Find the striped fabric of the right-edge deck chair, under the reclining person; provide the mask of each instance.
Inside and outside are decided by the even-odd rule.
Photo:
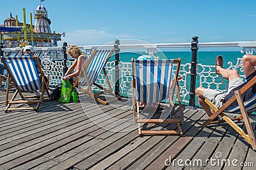
[[[254,94],[250,99],[247,101],[244,101],[244,107],[246,108],[247,112],[253,112],[256,111],[256,94]],[[239,108],[239,105],[236,104],[236,106],[233,106],[232,108],[228,108],[224,112],[227,113],[241,113],[241,110]]]

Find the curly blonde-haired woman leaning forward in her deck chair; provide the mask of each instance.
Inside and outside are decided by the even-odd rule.
[[[75,58],[76,60],[72,64],[72,66],[69,67],[67,73],[65,73],[63,80],[66,81],[67,79],[69,79],[74,83],[83,68],[83,64],[86,61],[87,56],[81,51],[81,49],[77,45],[68,46],[66,53],[71,55],[71,57]],[[75,68],[76,71],[74,71]]]

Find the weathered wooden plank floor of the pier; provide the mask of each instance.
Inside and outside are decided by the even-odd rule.
[[[4,96],[0,92],[0,169],[255,169],[256,166],[256,152],[232,127],[225,123],[202,127],[207,118],[202,109],[182,108],[183,137],[140,138],[132,120],[131,101],[103,106],[81,96],[79,103],[45,101],[38,112],[5,113]],[[255,130],[256,117],[250,115],[250,120]],[[243,122],[238,125],[244,128]],[[177,126],[148,125],[148,128],[177,129]],[[236,164],[246,162],[254,168],[212,166],[209,162],[204,165],[205,160],[218,160],[220,155],[221,160],[236,159]],[[183,162],[178,164],[177,160]],[[193,160],[202,160],[202,166],[193,165]]]

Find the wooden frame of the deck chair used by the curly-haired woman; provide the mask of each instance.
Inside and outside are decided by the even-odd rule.
[[[100,96],[102,94],[110,94],[111,96],[115,96],[117,99],[121,99],[120,96],[117,96],[116,94],[113,93],[113,90],[111,88],[111,84],[110,84],[110,81],[109,81],[109,78],[108,78],[108,74],[107,74],[107,71],[105,69],[105,66],[108,62],[108,60],[110,59],[111,55],[113,55],[113,52],[114,52],[114,49],[112,49],[110,52],[109,52],[109,55],[106,59],[106,62],[104,63],[104,67],[103,67],[103,73],[104,73],[104,76],[106,78],[106,81],[107,81],[107,84],[108,84],[108,89],[102,87],[101,85],[99,85],[98,83],[93,83],[93,85],[99,87],[99,89],[102,90],[102,92],[98,92],[98,93],[93,93],[93,90],[92,90],[92,86],[90,85],[89,83],[89,79],[88,79],[88,76],[86,74],[86,69],[88,68],[88,66],[91,64],[92,60],[93,60],[93,57],[95,57],[95,55],[97,54],[97,52],[99,52],[99,50],[94,50],[92,55],[90,56],[90,58],[88,59],[88,61],[86,62],[86,64],[84,65],[80,75],[79,75],[79,78],[77,78],[76,82],[74,83],[73,87],[78,87],[80,90],[82,90],[85,94],[88,94],[89,96],[91,96],[92,98],[95,99],[95,101],[101,103],[101,104],[104,104],[104,105],[107,105],[109,104],[109,101],[104,101],[102,99],[100,99],[99,97],[97,96]],[[81,77],[84,77],[85,78],[85,81],[86,81],[86,84],[88,85],[88,89],[84,89],[83,87],[79,87],[78,86],[78,83],[79,83],[79,80],[81,80]]]

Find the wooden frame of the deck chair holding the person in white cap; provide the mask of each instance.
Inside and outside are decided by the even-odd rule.
[[[17,57],[17,59],[19,59],[19,57]],[[49,90],[47,89],[47,86],[46,86],[46,83],[45,83],[45,80],[44,80],[44,73],[42,71],[42,68],[40,66],[40,63],[38,61],[38,58],[37,57],[32,57],[33,60],[35,60],[35,62],[37,63],[38,67],[39,67],[39,71],[40,71],[40,74],[42,75],[42,89],[38,89],[38,90],[42,90],[42,94],[41,96],[39,97],[36,97],[36,96],[24,96],[21,92],[21,90],[19,89],[17,83],[15,82],[15,79],[13,78],[12,76],[12,73],[10,71],[10,69],[8,68],[6,62],[4,61],[4,59],[2,58],[2,62],[4,64],[4,66],[6,67],[6,70],[8,72],[8,77],[7,77],[7,88],[6,88],[6,97],[5,97],[5,104],[6,104],[6,108],[5,108],[5,112],[7,111],[16,111],[16,110],[35,110],[35,111],[38,111],[38,108],[40,106],[41,103],[44,103],[44,97],[50,97],[50,94],[49,94]],[[9,96],[9,85],[10,83],[12,83],[16,90],[12,96],[12,99],[10,99],[10,101],[8,101],[8,96]],[[44,96],[44,92],[47,92],[47,96]],[[15,97],[17,97],[17,94],[20,95],[21,97],[21,100],[15,100]],[[12,104],[36,104],[35,107],[20,107],[20,108],[11,108]]]

